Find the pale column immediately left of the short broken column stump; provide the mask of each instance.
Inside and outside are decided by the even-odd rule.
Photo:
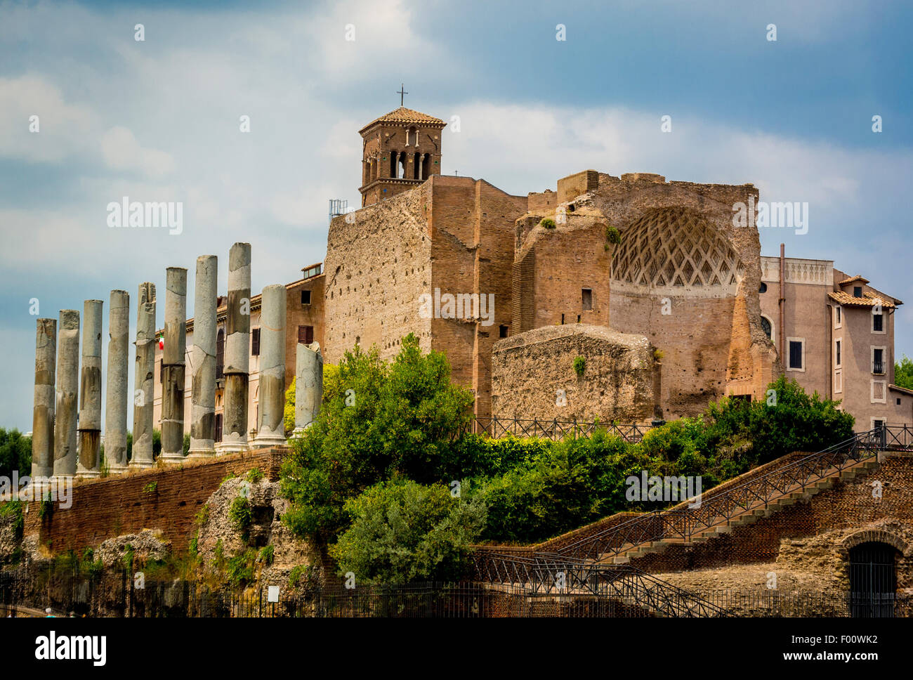
[[[260,298],[260,418],[256,446],[284,445],[285,286],[267,286]]]

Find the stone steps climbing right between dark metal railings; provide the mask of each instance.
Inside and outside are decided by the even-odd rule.
[[[792,506],[800,501],[808,501],[816,494],[820,494],[833,487],[838,481],[849,481],[856,476],[866,475],[878,466],[874,458],[868,458],[852,466],[838,469],[832,467],[825,471],[824,476],[806,485],[796,484],[785,490],[781,497],[761,500],[756,504],[744,508],[739,514],[725,518],[718,516],[708,522],[708,527],[695,531],[690,540],[683,537],[669,537],[661,540],[647,541],[639,544],[624,544],[617,551],[603,553],[595,564],[630,564],[631,560],[644,557],[651,553],[661,553],[672,546],[689,547],[716,539],[721,535],[729,534],[733,528],[752,524],[761,518],[771,517],[785,507]]]

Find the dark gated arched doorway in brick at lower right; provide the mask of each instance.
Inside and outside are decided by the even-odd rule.
[[[850,615],[860,618],[894,616],[897,593],[897,548],[869,541],[850,549]]]

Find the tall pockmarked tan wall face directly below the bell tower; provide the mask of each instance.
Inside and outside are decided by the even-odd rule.
[[[419,297],[431,284],[428,185],[333,219],[327,236],[324,361],[339,363],[358,342],[384,359],[412,332],[431,349],[431,319]]]

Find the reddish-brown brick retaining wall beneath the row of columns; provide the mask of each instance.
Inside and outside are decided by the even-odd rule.
[[[36,503],[29,504],[25,535],[38,536],[39,544],[55,554],[70,549],[97,548],[105,539],[160,529],[163,539],[180,552],[196,529],[194,518],[226,476],[241,476],[253,467],[270,480],[278,479],[286,449],[264,449],[187,462],[163,469],[152,468],[121,476],[79,480],[73,486],[72,505],[55,505],[49,518],[38,517]],[[155,482],[153,492],[143,487]]]

